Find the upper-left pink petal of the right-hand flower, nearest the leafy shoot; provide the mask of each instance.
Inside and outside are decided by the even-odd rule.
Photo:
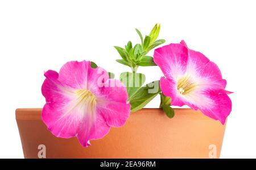
[[[164,76],[174,77],[185,74],[188,63],[188,49],[182,44],[170,44],[155,49],[154,61]]]

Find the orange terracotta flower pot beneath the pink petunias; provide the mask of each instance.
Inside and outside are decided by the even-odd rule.
[[[172,119],[161,109],[142,109],[84,148],[76,138],[53,136],[41,112],[16,110],[25,158],[218,158],[226,126],[191,109],[175,109]]]

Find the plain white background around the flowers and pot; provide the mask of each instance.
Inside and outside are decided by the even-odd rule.
[[[233,110],[221,157],[256,157],[255,1],[0,1],[0,157],[23,157],[15,109],[42,107],[43,73],[70,60],[92,60],[116,76],[113,45],[139,43],[161,23],[166,43],[184,39],[203,52],[228,81]],[[139,68],[146,81],[158,67]],[[158,107],[159,98],[147,107]]]

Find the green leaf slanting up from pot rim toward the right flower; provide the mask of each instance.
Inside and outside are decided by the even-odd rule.
[[[160,92],[159,81],[153,81],[146,86],[141,87],[133,96],[129,98],[131,112],[142,109]]]

